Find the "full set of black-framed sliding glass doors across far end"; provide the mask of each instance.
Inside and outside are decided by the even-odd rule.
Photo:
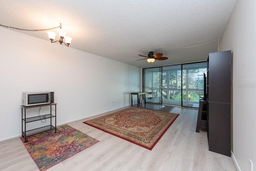
[[[199,107],[206,62],[145,68],[143,71],[147,103]]]

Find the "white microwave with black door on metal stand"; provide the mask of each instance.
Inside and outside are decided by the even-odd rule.
[[[54,92],[22,92],[22,105],[24,106],[44,105],[50,103],[54,103]]]

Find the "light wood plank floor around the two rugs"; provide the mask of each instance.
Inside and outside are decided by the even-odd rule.
[[[180,115],[152,151],[82,123],[92,118],[68,123],[100,142],[47,171],[236,171],[231,157],[208,151],[206,131],[196,133],[197,109],[170,112]],[[38,171],[18,137],[0,142],[0,171]]]

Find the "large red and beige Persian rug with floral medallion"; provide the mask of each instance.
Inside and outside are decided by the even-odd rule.
[[[129,107],[84,123],[152,150],[179,114]]]

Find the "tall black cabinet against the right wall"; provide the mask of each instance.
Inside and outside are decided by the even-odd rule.
[[[209,150],[231,156],[231,50],[209,54],[207,103]]]

